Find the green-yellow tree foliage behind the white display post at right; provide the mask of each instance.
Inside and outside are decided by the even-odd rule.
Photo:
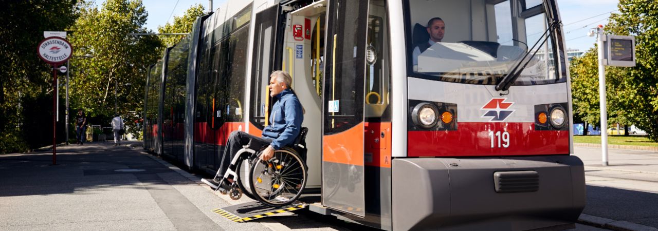
[[[658,2],[620,0],[605,31],[636,37],[633,68],[606,68],[610,123],[635,124],[658,140]],[[599,114],[596,50],[576,58],[570,68],[574,114],[596,123]]]

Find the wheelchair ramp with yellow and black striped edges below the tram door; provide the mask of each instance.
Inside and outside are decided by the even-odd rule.
[[[307,206],[307,203],[295,201],[295,203],[284,207],[273,208],[267,205],[263,205],[259,201],[252,201],[241,203],[239,205],[232,205],[229,207],[215,209],[213,210],[213,213],[217,213],[222,217],[226,217],[226,219],[229,219],[233,222],[243,222],[260,219],[263,217],[269,217],[279,213],[295,211],[297,209],[303,209]]]

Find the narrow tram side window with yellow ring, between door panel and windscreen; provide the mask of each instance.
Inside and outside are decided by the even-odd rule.
[[[390,117],[390,63],[386,1],[372,0],[368,7],[366,47],[365,117]]]

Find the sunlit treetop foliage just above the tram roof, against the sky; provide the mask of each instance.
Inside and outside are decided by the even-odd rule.
[[[197,20],[200,16],[203,16],[205,13],[204,7],[201,4],[193,5],[185,11],[183,16],[174,16],[174,23],[167,23],[164,26],[159,26],[158,31],[160,33],[190,33],[194,21]],[[171,47],[178,43],[180,39],[183,39],[186,35],[167,35],[163,36],[161,40],[165,47]]]

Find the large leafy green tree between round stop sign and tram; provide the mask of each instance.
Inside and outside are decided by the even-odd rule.
[[[91,54],[93,58],[74,58],[71,62],[71,102],[89,116],[111,118],[114,95],[118,114],[126,125],[135,127],[141,116],[145,74],[156,62],[161,42],[157,37],[132,36],[147,33],[147,12],[140,0],[107,0],[101,9],[82,9],[70,37],[74,56]],[[103,125],[109,120],[95,121]]]

